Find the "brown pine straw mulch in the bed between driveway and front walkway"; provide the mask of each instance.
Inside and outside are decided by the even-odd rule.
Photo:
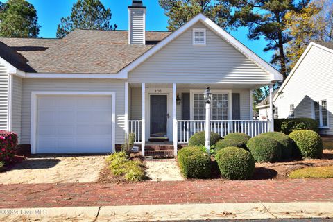
[[[139,153],[131,153],[130,160],[139,160],[144,164],[144,157]],[[100,183],[130,183],[123,176],[114,176],[109,168],[109,164],[105,161],[103,169],[99,172],[99,179],[97,182]]]

